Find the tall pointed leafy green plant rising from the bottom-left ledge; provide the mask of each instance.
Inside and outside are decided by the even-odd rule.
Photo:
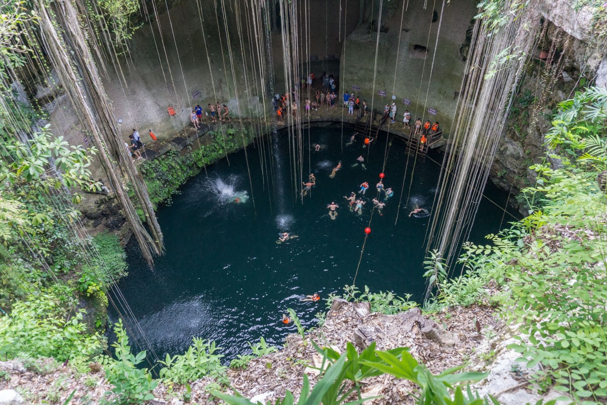
[[[139,352],[136,356],[131,353],[129,337],[124,332],[122,319],[114,325],[114,333],[117,339],[112,347],[116,359],[109,356],[103,358],[106,379],[114,385],[112,392],[106,392],[106,395],[114,393],[112,403],[115,404],[141,404],[154,399],[152,390],[158,385],[158,381],[152,379],[148,369],[137,368],[137,364],[146,358],[146,352]]]

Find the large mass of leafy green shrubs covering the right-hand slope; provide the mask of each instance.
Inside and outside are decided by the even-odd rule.
[[[607,400],[607,200],[596,181],[607,155],[606,106],[607,90],[597,88],[560,104],[546,135],[551,151],[523,191],[530,215],[490,235],[492,247],[467,245],[467,274],[442,282],[436,298],[466,302],[470,288],[502,285],[503,315],[520,325],[510,347],[527,366],[541,364],[540,389],[554,386],[583,404]]]

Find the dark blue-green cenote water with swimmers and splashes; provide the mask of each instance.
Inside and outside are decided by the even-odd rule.
[[[273,184],[263,185],[256,149],[248,149],[252,191],[244,152],[230,155],[229,165],[224,159],[209,166],[208,175],[202,171],[181,188],[171,206],[158,210],[166,255],[155,259],[153,270],[140,258],[135,243],[127,246],[129,276],[119,287],[157,355],[183,353],[192,336],[216,341],[227,359],[246,352],[247,341],[259,341],[260,336],[280,345],[288,333],[296,332],[293,324],[280,321],[287,308],[296,311],[305,327],[312,327],[314,315],[326,310],[324,298],[352,284],[371,199],[377,194],[385,134],[370,149],[362,148],[358,139],[343,146],[343,153],[341,134],[341,127],[310,129],[310,142],[323,148],[310,152],[317,180],[303,204],[292,196],[287,134],[279,132],[274,136],[279,154],[275,154]],[[344,129],[344,145],[350,134],[351,129]],[[367,169],[352,167],[359,155]],[[443,158],[432,151],[429,157],[439,162]],[[304,160],[308,162],[308,154]],[[331,168],[339,160],[343,168],[331,179]],[[410,159],[395,225],[406,162],[402,141],[393,140],[384,184],[395,190],[395,196],[382,216],[373,214],[356,284],[361,289],[368,285],[371,291],[412,294],[413,300],[421,301],[424,237],[430,219],[408,214],[415,206],[432,207],[439,166],[426,159],[418,160],[414,168]],[[370,188],[359,216],[349,211],[344,196],[358,192],[364,181]],[[506,196],[491,185],[485,194],[504,205]],[[340,206],[336,220],[330,219],[326,208],[332,201]],[[470,240],[483,242],[486,234],[497,232],[501,222],[510,219],[483,199]],[[282,231],[299,237],[276,243]],[[300,301],[314,292],[323,300]],[[117,318],[117,313],[110,313],[111,321]],[[141,342],[132,325],[129,332]]]

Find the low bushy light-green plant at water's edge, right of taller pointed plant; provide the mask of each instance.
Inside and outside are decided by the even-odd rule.
[[[214,378],[225,378],[227,367],[222,366],[223,355],[217,354],[220,347],[215,342],[192,338],[194,342],[183,355],[166,355],[160,369],[160,378],[169,383],[184,384],[188,381],[209,375]]]

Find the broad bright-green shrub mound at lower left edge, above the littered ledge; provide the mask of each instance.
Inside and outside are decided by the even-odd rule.
[[[0,318],[0,356],[54,357],[59,361],[89,359],[103,349],[104,340],[87,332],[85,310],[58,288],[32,294],[13,304]]]

